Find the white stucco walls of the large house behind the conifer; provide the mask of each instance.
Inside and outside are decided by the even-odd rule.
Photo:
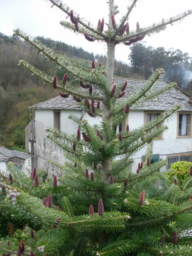
[[[59,110],[58,110],[59,111]],[[76,134],[78,125],[74,124],[68,119],[70,114],[74,114],[78,117],[82,116],[82,111],[79,110],[61,110],[61,130],[68,134]],[[86,112],[84,113],[83,119],[88,120],[90,125],[96,124],[101,121],[101,118],[92,118]],[[128,124],[130,130],[138,128],[144,124],[144,111],[136,110],[131,112],[128,117]],[[164,122],[164,125],[169,127],[163,134],[162,139],[155,139],[153,144],[153,154],[159,154],[160,159],[165,159],[166,155],[188,152],[192,150],[192,138],[177,138],[177,114],[174,114],[172,118]],[[46,127],[54,127],[54,111],[53,110],[36,110],[36,145],[38,145],[38,152],[43,152],[43,139],[46,138]],[[51,148],[52,152],[50,158],[56,160],[60,164],[63,164],[65,159],[63,153],[60,150],[54,148],[52,144],[46,139],[46,148]],[[132,166],[132,172],[136,172],[138,162],[141,161],[142,156],[145,155],[146,148],[142,148],[139,152],[133,156],[135,162]],[[39,154],[40,155],[40,154]],[[47,156],[48,157],[48,156]],[[38,168],[45,167],[47,160],[43,159],[42,156],[38,159]],[[49,166],[50,168],[50,166]],[[51,173],[50,173],[51,174]],[[54,173],[56,174],[56,172]]]

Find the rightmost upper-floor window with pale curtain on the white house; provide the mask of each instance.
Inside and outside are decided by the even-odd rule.
[[[191,114],[178,114],[178,136],[191,136]]]

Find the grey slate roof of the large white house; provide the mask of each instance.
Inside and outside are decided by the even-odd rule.
[[[121,82],[125,82],[127,80],[128,85],[126,88],[126,94],[123,99],[128,98],[131,94],[134,94],[141,88],[145,80],[132,80],[132,79],[115,79],[114,84],[119,84]],[[166,82],[158,82],[158,89],[166,86]],[[155,86],[154,89],[155,90]],[[192,105],[188,102],[189,95],[185,92],[182,92],[179,88],[171,88],[170,90],[164,92],[162,95],[155,97],[153,100],[148,100],[146,102],[139,101],[137,104],[134,104],[134,108],[137,110],[167,110],[171,108],[175,104],[182,104],[182,110],[192,110]],[[62,98],[57,96],[50,100],[46,100],[45,102],[41,102],[34,106],[31,106],[33,109],[65,109],[65,108],[82,108],[72,98],[69,96],[68,98]]]

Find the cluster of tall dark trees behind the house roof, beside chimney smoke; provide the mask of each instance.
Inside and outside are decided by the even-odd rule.
[[[162,67],[166,72],[165,81],[174,81],[188,92],[189,79],[192,76],[192,58],[188,53],[183,54],[179,49],[166,51],[164,47],[155,49],[141,43],[134,44],[130,49],[129,60],[134,72],[148,79],[156,68]]]

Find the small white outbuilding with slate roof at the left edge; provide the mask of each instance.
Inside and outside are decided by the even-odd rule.
[[[0,171],[7,172],[8,162],[12,162],[19,170],[22,170],[26,175],[29,175],[31,170],[30,154],[0,147]]]

